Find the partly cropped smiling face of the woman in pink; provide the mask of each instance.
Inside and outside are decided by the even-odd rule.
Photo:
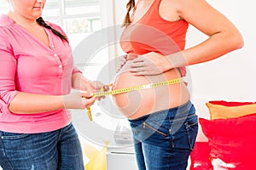
[[[46,0],[9,0],[11,12],[26,20],[36,20],[42,15]]]

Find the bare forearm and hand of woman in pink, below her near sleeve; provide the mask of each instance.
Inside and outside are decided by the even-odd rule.
[[[93,105],[95,97],[88,93],[74,92],[67,95],[43,95],[19,92],[9,104],[15,114],[32,114],[61,109],[85,109]]]

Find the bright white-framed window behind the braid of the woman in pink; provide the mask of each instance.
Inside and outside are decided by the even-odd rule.
[[[91,32],[102,28],[100,0],[51,0],[44,8],[44,18],[66,31],[74,48]]]

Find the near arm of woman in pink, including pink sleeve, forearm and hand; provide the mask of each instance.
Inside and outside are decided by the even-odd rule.
[[[15,89],[15,59],[12,54],[1,49],[0,56],[0,108],[4,112],[9,110],[16,114],[31,114],[64,108],[85,109],[95,101],[89,93],[42,95],[19,92]]]

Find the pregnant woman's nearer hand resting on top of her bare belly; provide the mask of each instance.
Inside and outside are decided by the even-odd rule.
[[[165,56],[150,52],[132,60],[131,72],[135,76],[158,75],[172,69],[171,62]]]

